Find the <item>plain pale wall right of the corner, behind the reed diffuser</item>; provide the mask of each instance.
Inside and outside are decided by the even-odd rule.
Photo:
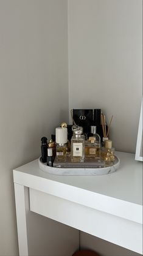
[[[142,97],[142,0],[69,0],[69,108],[114,116],[111,139],[135,152]]]

